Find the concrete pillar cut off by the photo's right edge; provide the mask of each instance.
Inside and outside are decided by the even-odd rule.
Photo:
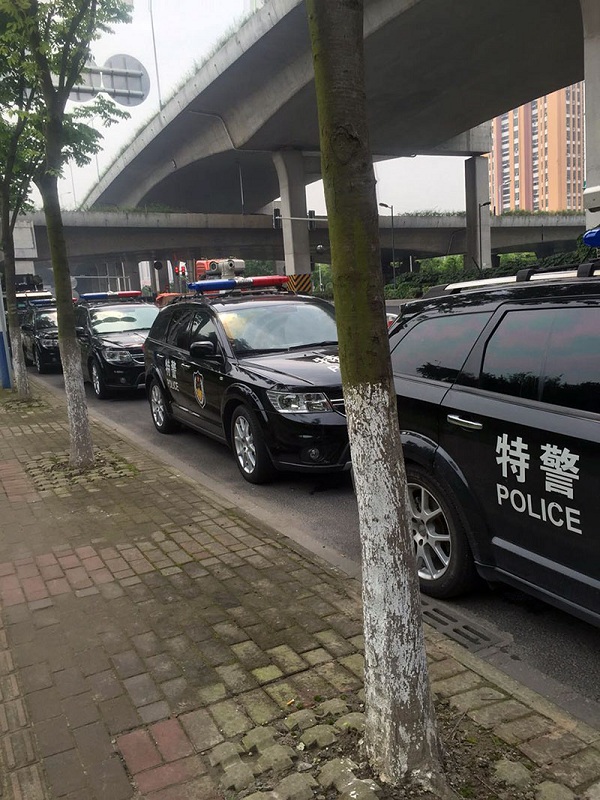
[[[585,186],[583,194],[586,228],[600,225],[600,4],[579,0],[583,19],[583,64],[585,78]],[[592,197],[596,199],[592,201]]]

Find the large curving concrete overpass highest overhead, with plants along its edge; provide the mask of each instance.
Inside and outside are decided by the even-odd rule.
[[[484,153],[477,126],[584,77],[580,0],[365,0],[365,61],[375,158]],[[319,177],[303,0],[270,0],[250,17],[85,205],[254,213],[281,195],[273,154],[286,151],[302,154],[305,183]]]

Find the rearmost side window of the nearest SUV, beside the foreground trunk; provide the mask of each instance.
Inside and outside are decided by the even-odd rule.
[[[392,351],[394,373],[456,380],[489,316],[481,312],[424,319]]]

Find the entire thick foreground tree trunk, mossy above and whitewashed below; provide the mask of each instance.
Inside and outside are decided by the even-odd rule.
[[[307,0],[340,366],[358,500],[365,743],[393,785],[453,796],[440,747],[385,321],[364,88],[362,0]]]

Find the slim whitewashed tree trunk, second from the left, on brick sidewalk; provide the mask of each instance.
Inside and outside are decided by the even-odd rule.
[[[94,464],[94,448],[83,385],[81,348],[75,335],[73,291],[56,173],[48,170],[36,183],[44,203],[46,230],[54,274],[54,291],[58,311],[58,346],[69,418],[70,463],[72,467],[85,469]]]

